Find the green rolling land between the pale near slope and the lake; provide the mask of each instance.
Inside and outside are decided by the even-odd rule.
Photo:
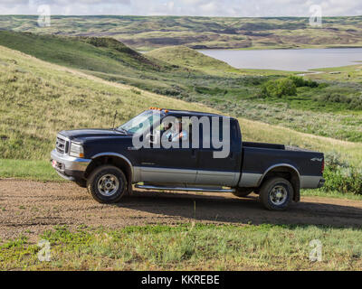
[[[186,47],[140,54],[110,38],[0,32],[0,45],[101,79],[198,102],[234,117],[362,141],[362,110],[358,108],[362,84],[357,80],[319,79],[323,83],[318,87],[301,86],[291,96],[265,97],[262,90],[268,81],[293,73],[235,70]]]

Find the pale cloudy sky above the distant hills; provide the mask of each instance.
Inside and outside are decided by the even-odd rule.
[[[42,5],[63,15],[309,17],[313,5],[323,16],[362,15],[361,0],[0,0],[0,14],[40,14]]]

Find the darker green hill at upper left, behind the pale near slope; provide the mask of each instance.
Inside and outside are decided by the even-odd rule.
[[[26,43],[26,45],[24,45]],[[79,70],[118,74],[119,79],[150,78],[165,63],[149,60],[112,38],[66,37],[0,32],[0,45]],[[129,81],[129,80],[128,80]]]

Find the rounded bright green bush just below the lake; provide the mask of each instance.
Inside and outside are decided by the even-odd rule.
[[[269,80],[262,86],[262,95],[273,98],[295,96],[297,95],[297,86],[289,78]]]

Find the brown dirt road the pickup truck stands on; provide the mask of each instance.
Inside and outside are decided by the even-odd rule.
[[[194,210],[195,205],[195,210]],[[262,209],[257,196],[232,194],[134,191],[115,205],[102,205],[73,183],[0,181],[0,240],[21,234],[33,241],[55,225],[121,228],[169,224],[196,219],[205,223],[316,224],[362,226],[362,201],[302,198],[283,212]]]

